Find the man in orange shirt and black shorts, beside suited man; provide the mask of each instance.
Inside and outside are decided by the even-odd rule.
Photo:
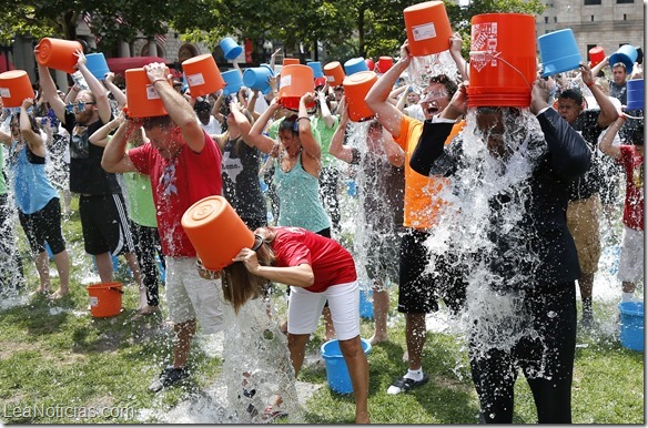
[[[399,253],[398,312],[405,314],[407,350],[403,359],[408,361],[408,367],[407,373],[387,389],[387,394],[391,395],[407,393],[429,380],[422,363],[426,342],[425,316],[438,310],[439,294],[453,313],[459,310],[465,299],[463,276],[459,267],[456,267],[459,265],[450,263],[455,258],[454,254],[447,254],[438,261],[438,264],[446,268],[444,275],[433,277],[426,273],[429,256],[424,243],[435,225],[438,211],[445,203],[439,197],[445,179],[429,177],[412,170],[408,160],[423,132],[423,122],[401,112],[388,99],[394,83],[412,61],[408,47],[408,42],[405,41],[401,47],[399,60],[378,79],[365,98],[367,106],[376,113],[378,122],[406,153],[403,220],[405,233]],[[432,119],[441,113],[448,105],[456,89],[457,84],[445,74],[431,77],[421,101],[425,119]],[[458,121],[456,131],[460,126],[462,121]]]

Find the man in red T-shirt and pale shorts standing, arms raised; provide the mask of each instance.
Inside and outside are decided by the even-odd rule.
[[[155,202],[158,230],[166,262],[166,302],[175,332],[173,361],[149,386],[151,391],[178,384],[188,367],[196,320],[204,333],[223,329],[223,312],[214,284],[195,269],[196,252],[181,218],[195,202],[222,193],[221,151],[204,132],[192,106],[169,80],[169,68],[153,62],[146,75],[169,114],[129,118],[108,142],[101,165],[111,173],[149,175]],[[126,140],[140,126],[149,142],[126,152]]]

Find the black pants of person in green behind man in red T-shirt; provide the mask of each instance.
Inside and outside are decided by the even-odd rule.
[[[160,262],[164,266],[158,228],[142,226],[131,221],[131,234],[133,235],[138,263],[142,271],[142,283],[146,287],[146,302],[149,306],[158,306],[160,305],[158,284],[160,276],[155,263],[155,253],[160,255]]]

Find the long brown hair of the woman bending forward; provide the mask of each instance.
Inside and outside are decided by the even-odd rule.
[[[255,235],[255,242],[261,244],[256,248],[256,259],[261,266],[272,266],[276,259],[270,243]],[[239,310],[251,298],[259,298],[266,295],[270,281],[254,275],[247,271],[243,262],[234,262],[223,268],[221,275],[223,298],[234,307],[234,313]]]

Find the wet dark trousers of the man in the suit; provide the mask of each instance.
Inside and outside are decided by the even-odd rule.
[[[514,385],[522,368],[534,395],[539,424],[571,424],[571,378],[576,349],[575,283],[527,292],[527,313],[537,337],[510,349],[479,353],[470,340],[470,369],[479,396],[479,421],[512,424]],[[477,322],[478,323],[478,322]]]

